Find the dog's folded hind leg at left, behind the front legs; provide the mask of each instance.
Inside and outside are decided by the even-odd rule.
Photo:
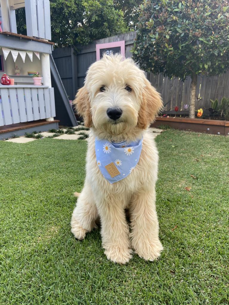
[[[71,217],[71,232],[77,239],[84,239],[87,232],[96,228],[97,208],[90,187],[85,183]]]

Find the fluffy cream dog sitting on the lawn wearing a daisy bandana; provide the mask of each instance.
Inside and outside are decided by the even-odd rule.
[[[160,94],[132,59],[104,55],[89,67],[73,103],[91,129],[85,183],[76,193],[71,232],[84,239],[99,217],[108,260],[125,264],[133,252],[144,260],[157,259],[163,249],[155,207],[158,152],[148,127],[162,108]],[[116,143],[121,145],[116,148]],[[114,161],[112,149],[126,158],[128,173],[121,169],[121,157]],[[99,150],[101,160],[97,160]],[[129,209],[129,224],[125,209]]]

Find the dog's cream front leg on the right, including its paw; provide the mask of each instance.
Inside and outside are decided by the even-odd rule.
[[[155,186],[133,195],[130,205],[131,241],[135,253],[145,260],[155,260],[163,250],[158,237]]]

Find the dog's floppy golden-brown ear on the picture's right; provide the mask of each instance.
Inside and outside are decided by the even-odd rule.
[[[144,79],[144,83],[145,86],[142,92],[142,101],[137,122],[137,126],[142,129],[146,129],[155,120],[159,110],[163,107],[161,95],[146,78]]]

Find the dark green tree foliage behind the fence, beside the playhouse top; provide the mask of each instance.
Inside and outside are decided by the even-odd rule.
[[[113,0],[50,0],[52,41],[56,47],[86,45],[128,31]],[[18,33],[26,35],[25,9],[16,10]]]

